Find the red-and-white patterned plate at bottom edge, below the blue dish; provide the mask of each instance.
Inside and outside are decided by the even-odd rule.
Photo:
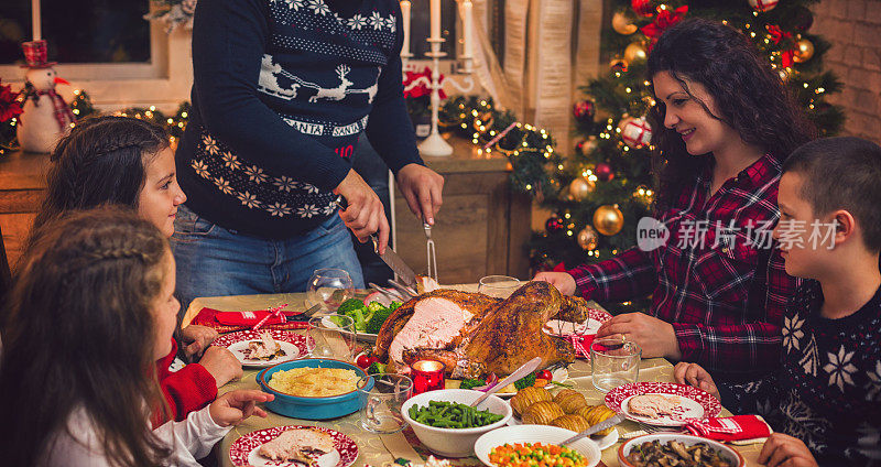
[[[333,452],[313,457],[318,467],[349,467],[355,464],[355,460],[358,458],[358,444],[342,433],[323,426],[290,425],[258,430],[242,435],[229,446],[229,459],[232,460],[233,466],[303,467],[303,464],[293,460],[270,460],[258,454],[260,452],[260,446],[275,439],[287,430],[295,428],[318,430],[334,438],[335,449]]]

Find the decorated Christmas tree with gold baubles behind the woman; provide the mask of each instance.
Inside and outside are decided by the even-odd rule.
[[[551,178],[563,187],[542,205],[553,214],[530,242],[536,270],[565,270],[598,262],[631,248],[637,224],[651,213],[652,128],[645,115],[654,105],[645,58],[661,34],[686,17],[724,21],[742,31],[779,70],[820,135],[835,134],[841,110],[826,102],[840,88],[822,56],[828,43],[808,33],[816,1],[653,1],[614,0],[603,31],[605,76],[581,89],[574,106],[579,138]],[[782,122],[781,124],[785,124]]]

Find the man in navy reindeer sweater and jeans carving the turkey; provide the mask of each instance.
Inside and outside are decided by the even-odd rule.
[[[434,222],[444,181],[416,151],[402,42],[395,0],[198,3],[176,156],[188,198],[173,238],[184,308],[196,296],[304,291],[319,268],[363,286],[346,227],[361,241],[376,232],[384,250],[389,226],[351,170],[362,132],[413,213]],[[339,215],[337,195],[348,202]]]

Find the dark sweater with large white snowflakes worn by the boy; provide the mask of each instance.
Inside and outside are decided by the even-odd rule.
[[[840,319],[820,316],[822,304],[819,283],[805,281],[783,321],[781,371],[755,388],[755,409],[822,466],[881,466],[881,289]]]

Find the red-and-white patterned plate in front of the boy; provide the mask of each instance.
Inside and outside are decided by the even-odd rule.
[[[656,419],[637,415],[630,412],[630,399],[634,395],[661,394],[676,397],[679,405],[673,415],[661,415]],[[656,426],[684,426],[688,420],[704,420],[721,412],[719,401],[703,389],[672,382],[631,382],[619,385],[606,394],[606,405],[623,413],[629,420]]]

